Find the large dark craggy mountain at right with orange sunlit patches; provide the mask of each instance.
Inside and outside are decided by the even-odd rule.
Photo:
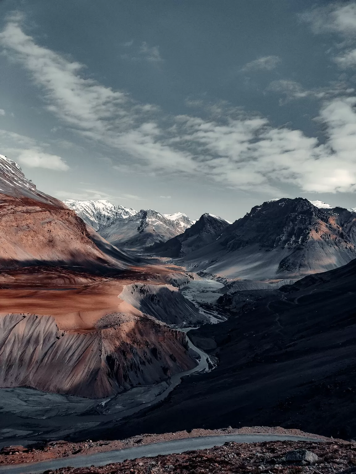
[[[356,213],[302,198],[255,206],[214,242],[182,255],[195,271],[254,281],[300,278],[355,257]]]

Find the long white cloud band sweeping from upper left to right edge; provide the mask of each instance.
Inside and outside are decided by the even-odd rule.
[[[111,147],[113,156],[127,154],[148,172],[185,173],[274,195],[282,194],[281,183],[302,191],[356,191],[356,97],[324,103],[319,120],[328,140],[320,144],[300,130],[274,128],[266,118],[248,117],[224,103],[210,108],[210,119],[163,116],[153,105],[84,79],[81,64],[38,46],[16,21],[0,33],[0,42],[63,124]]]

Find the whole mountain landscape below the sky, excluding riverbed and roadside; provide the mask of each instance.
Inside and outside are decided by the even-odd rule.
[[[206,360],[159,408],[114,432],[84,423],[85,437],[241,422],[330,434],[348,418],[356,433],[354,209],[281,198],[230,223],[62,202],[4,155],[0,188],[0,387],[104,399]],[[213,307],[180,291],[202,277],[225,284]]]

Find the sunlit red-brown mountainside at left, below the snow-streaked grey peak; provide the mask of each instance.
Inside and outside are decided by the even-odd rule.
[[[43,264],[94,272],[126,266],[99,250],[74,211],[0,194],[0,268]]]

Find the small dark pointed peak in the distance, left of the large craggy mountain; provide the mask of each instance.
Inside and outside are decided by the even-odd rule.
[[[155,244],[150,251],[165,257],[181,257],[206,246],[221,235],[231,223],[213,214],[203,214],[199,220],[183,234],[169,239],[165,243]]]

